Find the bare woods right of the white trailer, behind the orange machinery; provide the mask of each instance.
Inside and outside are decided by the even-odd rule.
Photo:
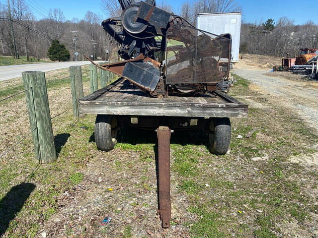
[[[298,56],[301,48],[318,47],[318,25],[308,21],[295,25],[294,20],[281,17],[275,23],[268,19],[259,24],[243,23],[240,52],[285,57]]]

